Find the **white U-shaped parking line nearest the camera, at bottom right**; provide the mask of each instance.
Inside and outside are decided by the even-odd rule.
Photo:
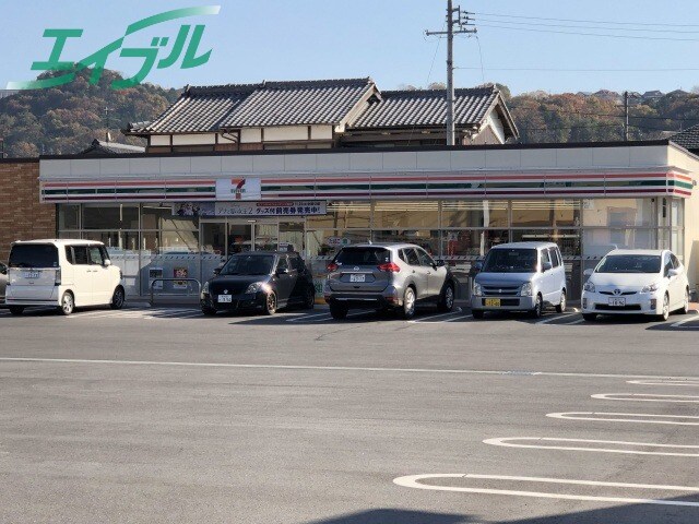
[[[517,483],[534,483],[534,484],[555,484],[555,485],[573,485],[573,486],[599,486],[608,488],[625,488],[625,489],[647,489],[659,491],[682,491],[687,493],[696,493],[699,491],[699,487],[691,486],[662,486],[653,484],[628,484],[628,483],[603,483],[596,480],[577,480],[566,478],[548,478],[548,477],[516,477],[510,475],[475,475],[475,474],[431,474],[431,475],[408,475],[405,477],[398,477],[393,479],[393,484],[404,488],[415,489],[429,489],[435,491],[453,491],[461,493],[482,493],[482,495],[503,495],[510,497],[530,497],[542,499],[558,499],[558,500],[584,500],[584,501],[597,501],[597,502],[620,502],[628,504],[654,504],[654,505],[680,505],[687,508],[699,508],[699,502],[689,502],[684,500],[663,500],[663,499],[636,499],[627,497],[605,497],[605,496],[591,496],[591,495],[567,495],[567,493],[552,493],[546,491],[521,491],[509,489],[493,489],[493,488],[469,488],[461,486],[435,486],[429,484],[422,484],[419,480],[429,478],[471,478],[479,480],[505,480]]]

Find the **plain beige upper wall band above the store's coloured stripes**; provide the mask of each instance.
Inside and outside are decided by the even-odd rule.
[[[682,153],[682,150],[679,150]],[[522,147],[522,148],[463,148],[452,151],[395,151],[360,152],[333,151],[331,153],[294,153],[227,156],[183,156],[118,158],[43,159],[42,177],[50,178],[110,178],[130,176],[217,176],[227,174],[294,175],[353,172],[425,172],[425,171],[526,171],[555,169],[571,172],[611,168],[666,168],[672,147],[667,145],[614,147]],[[689,155],[688,153],[685,156]],[[676,157],[699,172],[694,158]]]

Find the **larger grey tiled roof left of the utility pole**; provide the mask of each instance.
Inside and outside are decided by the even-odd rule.
[[[129,124],[127,132],[213,132],[242,127],[337,124],[375,88],[371,79],[188,87],[158,118]]]

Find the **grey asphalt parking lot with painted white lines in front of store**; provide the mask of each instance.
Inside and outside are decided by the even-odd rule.
[[[696,523],[699,314],[0,310],[0,522]]]

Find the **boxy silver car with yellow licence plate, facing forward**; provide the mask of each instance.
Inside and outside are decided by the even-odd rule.
[[[476,270],[471,294],[474,319],[482,319],[485,311],[529,311],[538,318],[546,306],[566,310],[566,269],[553,242],[501,243]]]

